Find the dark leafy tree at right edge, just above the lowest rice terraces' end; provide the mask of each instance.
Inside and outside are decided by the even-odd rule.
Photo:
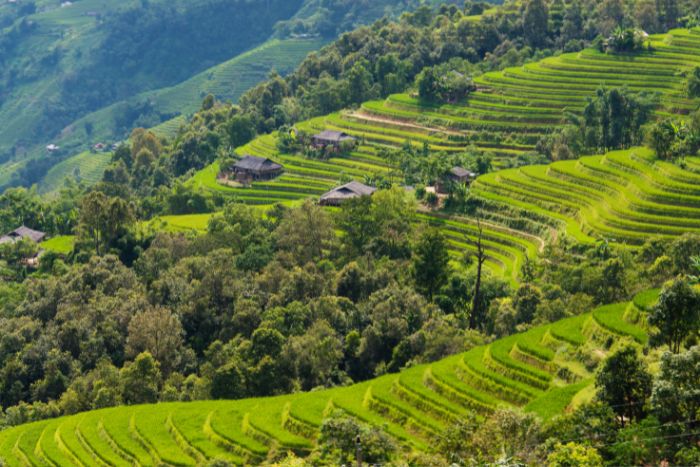
[[[688,337],[700,332],[700,292],[687,278],[674,279],[661,291],[648,322],[658,328],[652,341],[663,342],[678,353]]]

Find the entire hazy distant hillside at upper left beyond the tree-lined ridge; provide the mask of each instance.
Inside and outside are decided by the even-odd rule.
[[[94,141],[119,140],[135,126],[157,126],[187,115],[203,93],[235,101],[270,70],[289,71],[324,40],[420,3],[3,3],[0,186],[13,183],[13,177],[14,183],[35,183],[51,166]],[[271,38],[281,42],[268,43]],[[236,59],[248,51],[254,55]],[[187,82],[190,78],[194,81]],[[52,157],[44,149],[49,143],[61,146]]]

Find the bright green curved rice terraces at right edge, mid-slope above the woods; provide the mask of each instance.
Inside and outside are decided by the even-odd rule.
[[[579,241],[639,245],[700,232],[700,172],[634,148],[479,177],[472,193],[560,225]]]

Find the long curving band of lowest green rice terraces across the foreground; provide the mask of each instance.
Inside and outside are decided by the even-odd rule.
[[[308,453],[334,410],[383,426],[407,450],[430,452],[439,434],[468,413],[519,407],[547,419],[580,401],[577,395],[590,393],[594,368],[577,353],[604,355],[610,337],[646,341],[625,318],[632,309],[634,302],[598,308],[345,388],[120,407],[24,425],[0,432],[0,457],[8,466],[199,465],[213,458],[255,464],[271,450]]]

